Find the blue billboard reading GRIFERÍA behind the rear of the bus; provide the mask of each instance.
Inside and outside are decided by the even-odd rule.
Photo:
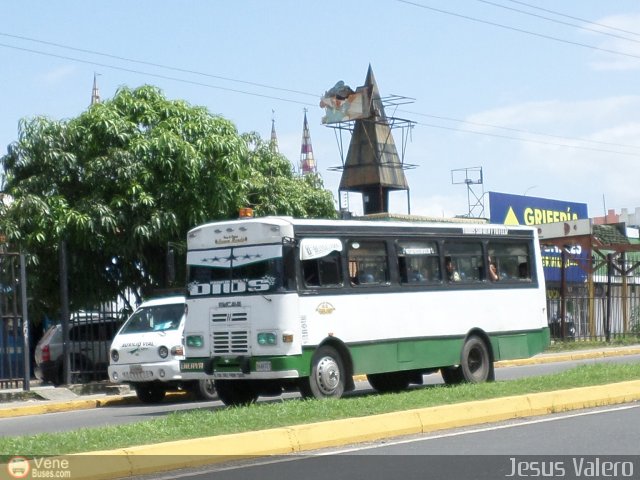
[[[589,218],[586,203],[566,202],[548,198],[510,195],[489,192],[489,215],[491,223],[503,225],[542,225]],[[571,248],[572,259],[567,261],[568,282],[584,282],[586,273],[576,259],[587,259],[591,252],[584,252],[575,245]],[[560,281],[561,252],[558,247],[543,247],[542,266],[547,282]]]

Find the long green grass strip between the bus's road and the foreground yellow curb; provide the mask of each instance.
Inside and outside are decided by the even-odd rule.
[[[457,386],[426,386],[394,394],[354,394],[340,400],[282,400],[247,407],[198,409],[127,425],[0,438],[0,459],[110,450],[414,408],[637,380],[640,364],[590,364],[561,373]]]

